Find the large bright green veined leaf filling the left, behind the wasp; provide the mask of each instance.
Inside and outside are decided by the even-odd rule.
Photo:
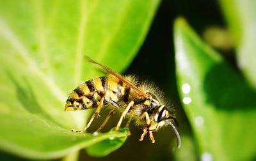
[[[56,158],[112,136],[124,137],[125,133],[100,134],[101,139],[92,142],[96,136],[70,134],[84,127],[92,111],[64,112],[65,101],[81,81],[102,76],[84,55],[118,72],[129,66],[158,4],[159,0],[1,1],[0,148],[22,157]],[[56,127],[63,129],[52,130]],[[29,141],[28,136],[35,138]],[[60,143],[68,137],[69,143]],[[83,141],[72,140],[76,137]]]

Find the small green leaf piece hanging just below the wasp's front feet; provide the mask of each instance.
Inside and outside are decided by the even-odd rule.
[[[115,130],[112,129],[113,132]],[[128,133],[128,129],[121,129],[119,130],[121,132]],[[109,137],[109,139],[106,139],[104,141],[101,141],[100,143],[93,144],[92,146],[88,147],[86,149],[87,153],[93,157],[104,157],[111,153],[112,151],[115,151],[116,149],[120,148],[124,141],[127,139],[127,136],[125,137]]]

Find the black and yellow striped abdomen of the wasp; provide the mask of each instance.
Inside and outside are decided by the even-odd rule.
[[[102,97],[116,107],[120,107],[129,100],[130,87],[112,76],[102,76],[84,81],[69,95],[65,111],[97,108]]]

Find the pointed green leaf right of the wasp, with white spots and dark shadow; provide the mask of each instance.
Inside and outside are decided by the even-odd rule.
[[[174,32],[180,99],[200,157],[252,160],[256,152],[252,139],[256,132],[256,92],[184,19],[177,19]]]

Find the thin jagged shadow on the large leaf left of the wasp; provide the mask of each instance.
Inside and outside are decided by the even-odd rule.
[[[35,97],[35,94],[28,83],[28,80],[26,80],[26,78],[23,79],[24,83],[26,84],[26,87],[24,87],[17,80],[15,80],[15,77],[12,76],[10,72],[6,71],[6,73],[9,76],[10,80],[12,81],[13,85],[15,85],[17,98],[19,99],[24,109],[29,111],[29,113],[42,116],[47,120],[51,120],[52,122],[54,122],[54,120],[52,120],[51,117],[47,115],[47,113],[45,113],[45,111],[42,109],[42,107],[38,103]]]

